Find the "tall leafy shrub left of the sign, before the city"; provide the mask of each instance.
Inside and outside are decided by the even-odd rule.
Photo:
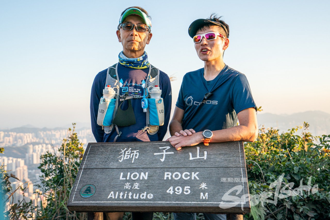
[[[85,213],[71,212],[66,207],[84,153],[83,143],[74,131],[75,124],[73,130],[69,128],[57,155],[47,153],[40,157],[42,163],[38,168],[43,173],[41,182],[46,198],[46,207],[38,213],[40,217],[63,220],[87,217]]]

